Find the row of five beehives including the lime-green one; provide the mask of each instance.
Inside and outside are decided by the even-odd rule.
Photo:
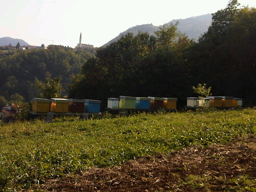
[[[177,98],[127,97],[108,98],[111,109],[176,109]]]

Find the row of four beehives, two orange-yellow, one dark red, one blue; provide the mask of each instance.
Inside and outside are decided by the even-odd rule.
[[[86,99],[32,99],[32,110],[37,113],[99,113],[100,100]]]

